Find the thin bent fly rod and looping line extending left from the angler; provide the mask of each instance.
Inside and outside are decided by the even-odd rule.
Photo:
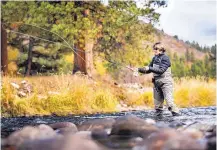
[[[13,23],[16,23],[16,22],[13,22]],[[3,23],[3,24],[6,24],[6,23]],[[62,46],[65,46],[65,47],[67,47],[67,48],[70,48],[77,56],[79,56],[84,62],[86,62],[86,60],[84,60],[84,59],[76,52],[76,51],[80,51],[80,52],[84,52],[84,51],[83,51],[83,50],[79,50],[79,49],[77,49],[77,48],[75,48],[75,47],[71,47],[70,44],[69,44],[62,36],[60,36],[59,34],[57,34],[57,33],[55,33],[55,32],[52,32],[52,31],[50,31],[50,30],[48,30],[48,29],[45,29],[45,28],[43,28],[43,27],[34,25],[34,24],[27,24],[27,23],[22,23],[22,24],[24,24],[24,25],[29,25],[29,26],[33,26],[33,27],[36,27],[36,28],[39,28],[39,29],[42,29],[42,30],[45,30],[45,31],[47,31],[47,32],[50,32],[50,33],[53,33],[53,34],[57,35],[57,36],[60,37],[67,45],[64,45],[64,44],[62,44],[62,43],[59,43],[59,44],[61,44]],[[37,36],[33,36],[33,35],[30,35],[30,34],[25,34],[25,33],[22,33],[22,32],[18,32],[18,31],[14,31],[14,30],[9,30],[9,29],[6,29],[6,30],[7,30],[7,31],[10,31],[10,32],[13,32],[13,33],[17,33],[17,34],[21,34],[21,35],[25,35],[25,36],[37,38],[37,39],[40,39],[40,40],[44,40],[44,41],[46,41],[46,42],[57,43],[57,42],[55,42],[55,41],[47,40],[47,39],[44,39],[44,38],[41,38],[41,37],[37,37]],[[103,58],[101,58],[101,59],[103,59]],[[106,60],[106,59],[103,59],[103,60]],[[125,67],[125,68],[127,68],[127,69],[129,69],[129,70],[135,72],[135,69],[133,69],[133,68],[131,68],[131,67],[128,67],[128,66],[126,66],[126,65],[124,65],[124,64],[117,63],[117,62],[113,62],[113,61],[110,61],[110,60],[106,60],[106,61],[108,61],[108,62],[110,62],[110,63],[112,63],[112,64],[114,64],[114,65],[119,65],[119,66]]]

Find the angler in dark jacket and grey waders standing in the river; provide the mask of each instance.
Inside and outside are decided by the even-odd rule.
[[[152,82],[154,84],[154,105],[156,116],[162,116],[164,99],[168,110],[173,116],[180,116],[178,108],[174,104],[173,98],[173,78],[171,73],[171,62],[165,55],[164,46],[158,42],[153,46],[153,57],[148,66],[137,68],[136,72],[148,74],[153,73]]]

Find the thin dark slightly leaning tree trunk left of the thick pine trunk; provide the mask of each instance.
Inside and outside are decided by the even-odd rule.
[[[26,65],[26,72],[25,76],[29,76],[31,72],[31,66],[32,66],[32,48],[33,48],[33,38],[29,38],[29,50],[28,50],[28,60]]]

